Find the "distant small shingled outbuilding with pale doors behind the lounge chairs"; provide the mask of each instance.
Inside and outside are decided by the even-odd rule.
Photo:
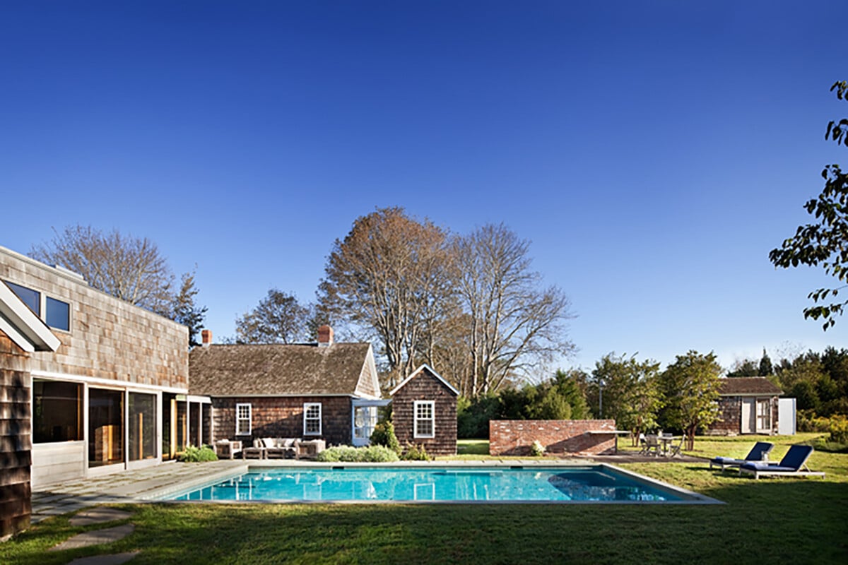
[[[719,387],[721,414],[711,435],[777,434],[778,396],[783,391],[765,377],[728,377]]]

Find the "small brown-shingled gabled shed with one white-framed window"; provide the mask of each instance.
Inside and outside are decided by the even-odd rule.
[[[394,433],[401,446],[424,446],[429,455],[456,454],[456,397],[448,381],[421,365],[389,392]]]

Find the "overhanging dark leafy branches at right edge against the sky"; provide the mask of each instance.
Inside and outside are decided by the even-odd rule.
[[[835,82],[830,90],[835,90],[840,100],[848,101],[848,81]],[[824,138],[848,147],[848,119],[831,121]],[[804,205],[807,213],[815,216],[816,223],[799,226],[795,235],[769,252],[768,258],[784,269],[799,264],[821,265],[825,274],[845,283],[848,282],[848,173],[843,173],[834,163],[823,169],[822,177],[825,181],[822,193]],[[804,308],[804,318],[824,319],[824,330],[832,327],[836,323],[834,315],[841,315],[848,306],[848,300],[836,299],[846,287],[837,284],[834,288],[812,291],[807,297],[815,306]],[[827,303],[828,297],[832,297],[832,302]]]

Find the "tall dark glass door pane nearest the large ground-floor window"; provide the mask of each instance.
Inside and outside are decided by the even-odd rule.
[[[124,462],[124,393],[88,389],[88,466]]]

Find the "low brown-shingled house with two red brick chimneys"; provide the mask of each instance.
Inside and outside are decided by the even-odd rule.
[[[368,343],[204,345],[189,357],[192,395],[208,396],[214,440],[291,437],[366,445],[377,424],[380,383]]]

